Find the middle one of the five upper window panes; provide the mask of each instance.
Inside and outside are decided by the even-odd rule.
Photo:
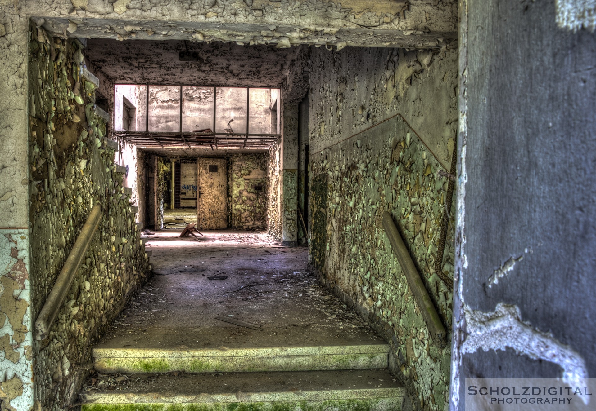
[[[213,87],[182,87],[182,131],[213,130]]]

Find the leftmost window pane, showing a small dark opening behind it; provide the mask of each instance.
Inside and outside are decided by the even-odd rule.
[[[114,86],[114,130],[145,131],[146,92],[144,85]],[[129,114],[129,121],[123,118],[125,111]]]

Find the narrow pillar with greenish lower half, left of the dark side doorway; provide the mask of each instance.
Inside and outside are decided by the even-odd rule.
[[[284,106],[282,140],[282,218],[281,243],[296,245],[298,240],[298,105]]]

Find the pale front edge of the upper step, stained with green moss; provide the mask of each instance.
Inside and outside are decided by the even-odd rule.
[[[387,344],[227,349],[95,348],[99,372],[316,371],[385,368]]]

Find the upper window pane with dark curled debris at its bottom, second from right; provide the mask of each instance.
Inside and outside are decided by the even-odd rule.
[[[246,133],[247,89],[218,87],[216,90],[215,131],[217,133]]]

